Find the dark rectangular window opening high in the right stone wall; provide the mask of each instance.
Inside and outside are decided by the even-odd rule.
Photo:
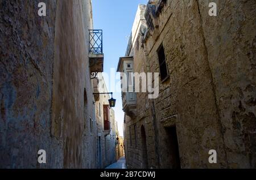
[[[161,80],[164,81],[168,78],[168,70],[166,65],[166,55],[164,54],[163,45],[158,49],[158,60]]]

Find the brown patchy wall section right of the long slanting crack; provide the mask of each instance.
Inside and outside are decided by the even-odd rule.
[[[214,1],[216,18],[206,15],[209,1],[199,1],[218,115],[230,168],[256,167],[255,1]]]

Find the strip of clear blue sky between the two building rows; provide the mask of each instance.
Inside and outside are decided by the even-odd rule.
[[[117,70],[119,57],[125,55],[127,36],[130,36],[138,5],[146,3],[147,0],[92,0],[93,28],[103,30],[104,72],[110,74],[110,68]],[[117,99],[114,108],[115,120],[122,136],[121,93],[113,93],[113,97]]]

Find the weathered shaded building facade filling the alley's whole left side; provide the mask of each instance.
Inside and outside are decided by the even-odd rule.
[[[92,2],[39,2],[0,2],[0,168],[96,168]]]

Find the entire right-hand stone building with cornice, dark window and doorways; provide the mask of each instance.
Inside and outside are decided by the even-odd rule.
[[[209,16],[209,3],[217,16]],[[129,168],[256,168],[255,2],[139,5],[118,71],[159,72],[159,96],[123,93]],[[239,8],[238,8],[239,7]],[[208,161],[209,150],[217,163]]]

